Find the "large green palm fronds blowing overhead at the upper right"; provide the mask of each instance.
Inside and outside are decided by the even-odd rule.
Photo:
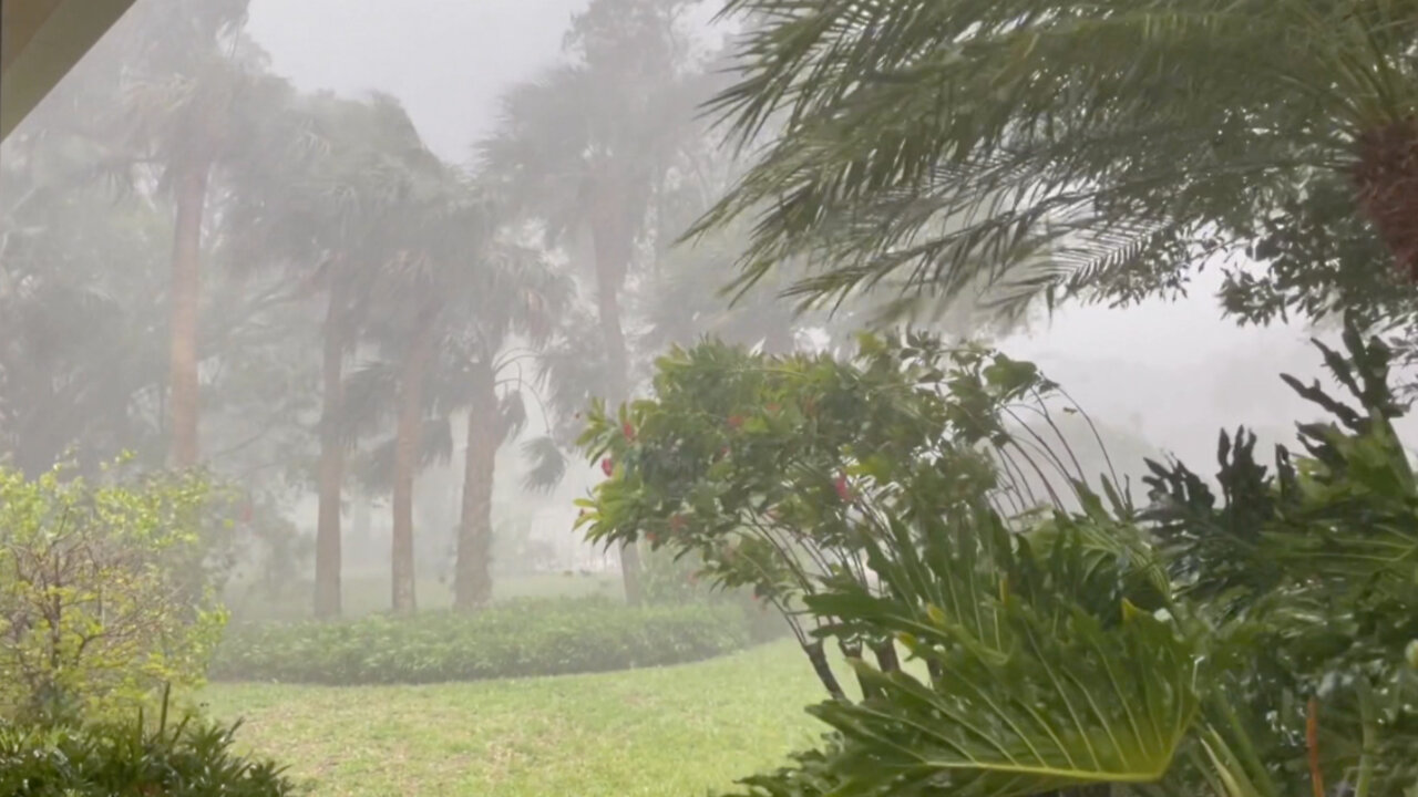
[[[726,9],[750,30],[713,108],[744,143],[781,126],[698,227],[756,217],[744,282],[803,255],[807,301],[981,275],[1126,301],[1336,180],[1418,272],[1407,0]]]

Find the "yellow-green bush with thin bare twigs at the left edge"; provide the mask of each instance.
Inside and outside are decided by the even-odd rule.
[[[200,682],[225,621],[199,475],[0,469],[0,716],[62,720]]]

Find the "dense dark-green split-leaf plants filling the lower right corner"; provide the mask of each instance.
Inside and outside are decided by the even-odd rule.
[[[1353,401],[1283,377],[1329,413],[1299,450],[1222,433],[1215,481],[1151,462],[1144,509],[1078,485],[1081,511],[1005,518],[903,479],[855,518],[875,583],[804,598],[893,655],[858,662],[861,702],[810,709],[820,749],[739,794],[1418,794],[1408,406],[1383,340],[1344,343],[1320,350]]]

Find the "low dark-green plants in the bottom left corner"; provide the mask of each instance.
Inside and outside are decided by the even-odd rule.
[[[0,723],[0,791],[13,797],[281,797],[295,787],[271,762],[231,750],[240,723],[191,718],[157,728]]]

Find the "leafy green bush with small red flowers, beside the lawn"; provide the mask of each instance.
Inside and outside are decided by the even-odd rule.
[[[862,336],[851,363],[675,349],[652,400],[590,414],[581,444],[610,478],[579,522],[591,540],[645,537],[693,554],[708,583],[752,587],[811,648],[807,631],[825,620],[801,598],[825,577],[869,580],[856,526],[873,505],[923,511],[912,508],[923,495],[947,506],[998,488],[1024,512],[1088,479],[1059,438],[1059,411],[1076,410],[1034,366],[925,335]],[[844,644],[864,641],[882,640]],[[821,665],[820,650],[810,655]]]

